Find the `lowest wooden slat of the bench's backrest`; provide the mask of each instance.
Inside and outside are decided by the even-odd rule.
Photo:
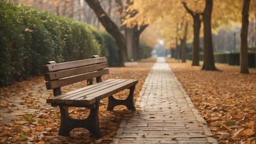
[[[80,74],[74,77],[68,77],[66,79],[59,79],[51,82],[46,82],[45,85],[46,85],[46,89],[60,88],[62,86],[70,85],[72,83],[81,82],[83,80],[92,79],[98,76],[103,76],[104,74],[108,74],[108,73],[109,73],[109,69],[104,69],[100,71],[94,71],[91,73]]]

